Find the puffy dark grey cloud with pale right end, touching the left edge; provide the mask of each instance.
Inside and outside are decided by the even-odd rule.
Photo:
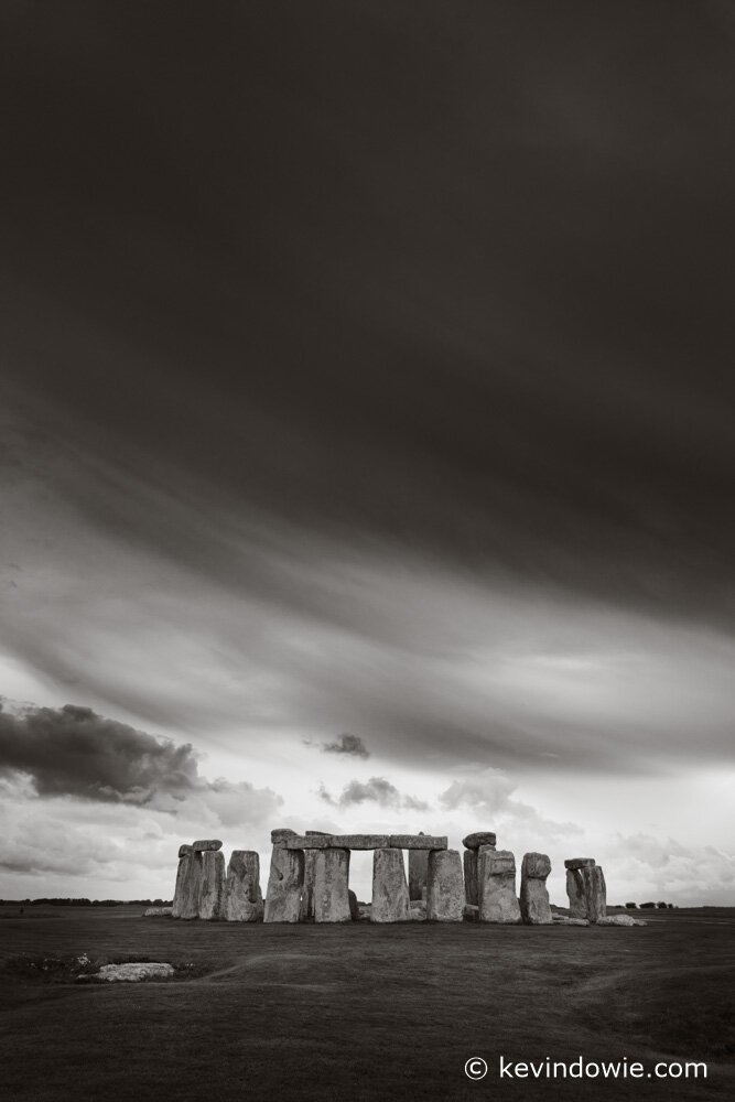
[[[247,781],[199,776],[191,743],[154,738],[74,704],[20,714],[0,704],[0,774],[31,777],[40,797],[166,811],[199,803],[226,824],[259,821],[283,802]]]

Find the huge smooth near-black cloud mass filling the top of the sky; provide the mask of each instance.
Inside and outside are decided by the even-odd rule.
[[[7,9],[7,401],[76,507],[732,622],[732,25],[530,7]]]

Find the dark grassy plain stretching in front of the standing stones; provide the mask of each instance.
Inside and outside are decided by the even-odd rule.
[[[0,908],[1,1096],[732,1098],[735,911],[646,917],[636,929],[290,927]],[[177,977],[75,984],[84,954],[170,961]],[[707,1078],[501,1080],[500,1055],[627,1058],[646,1072],[706,1061]],[[480,1082],[464,1074],[473,1056],[489,1065]]]

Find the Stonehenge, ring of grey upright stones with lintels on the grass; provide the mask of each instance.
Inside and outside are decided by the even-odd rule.
[[[496,849],[494,831],[467,834],[462,856],[447,847],[445,835],[422,832],[299,834],[280,828],[271,831],[271,843],[264,899],[255,850],[234,850],[225,867],[218,839],[182,843],[171,917],[242,923],[629,925],[607,919],[605,875],[594,857],[564,862],[569,915],[552,914],[547,890],[551,861],[545,853],[523,855],[518,895],[516,857],[510,850]],[[352,850],[372,851],[369,904],[358,903],[349,887]]]

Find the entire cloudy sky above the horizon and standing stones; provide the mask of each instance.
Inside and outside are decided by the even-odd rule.
[[[0,896],[289,825],[735,904],[734,6],[0,20]]]

